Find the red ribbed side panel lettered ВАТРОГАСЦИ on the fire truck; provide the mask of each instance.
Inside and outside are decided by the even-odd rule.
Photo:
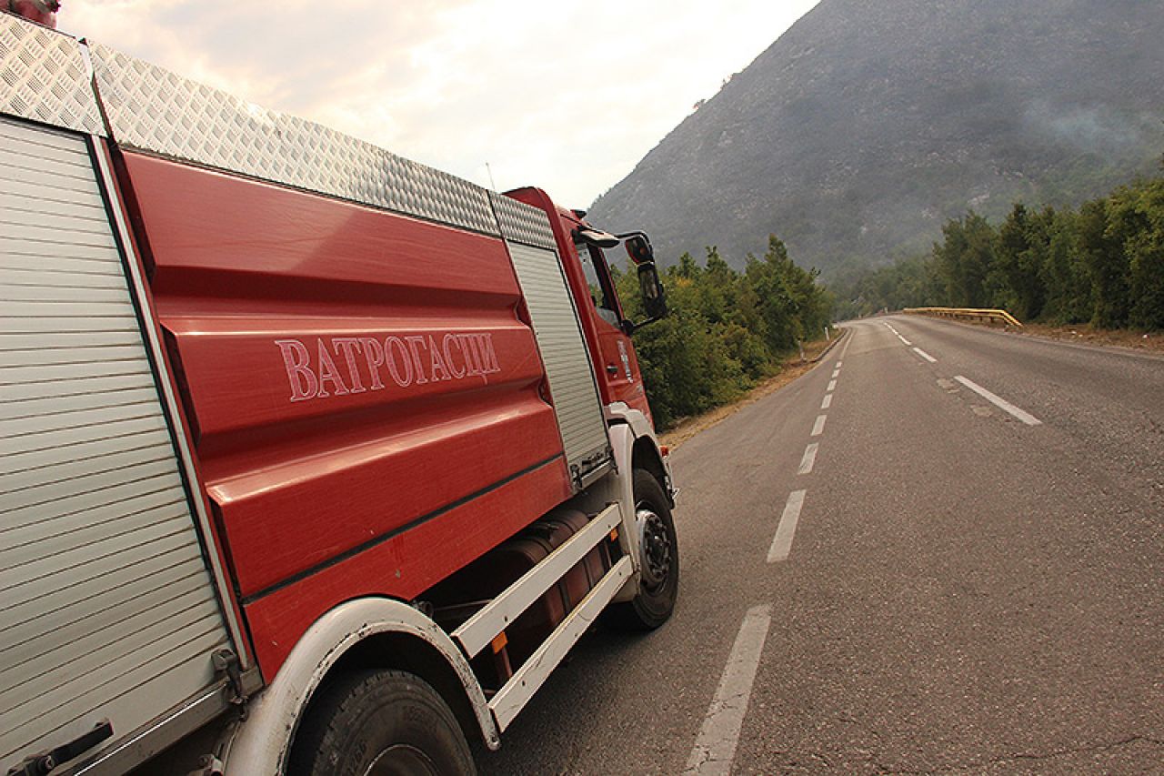
[[[127,154],[196,456],[264,676],[569,498],[504,244]]]

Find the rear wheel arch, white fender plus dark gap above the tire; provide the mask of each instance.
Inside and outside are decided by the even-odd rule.
[[[481,685],[448,634],[407,604],[362,598],[317,620],[250,701],[229,748],[226,773],[284,773],[299,722],[319,689],[345,672],[369,668],[416,673],[449,705],[467,739],[480,739],[490,749],[499,746]]]

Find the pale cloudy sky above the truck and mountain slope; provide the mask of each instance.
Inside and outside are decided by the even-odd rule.
[[[478,185],[587,207],[817,2],[63,0],[57,28]]]

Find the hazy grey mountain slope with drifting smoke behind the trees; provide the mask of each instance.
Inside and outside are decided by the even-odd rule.
[[[663,263],[776,233],[833,274],[967,209],[1073,205],[1164,153],[1164,3],[822,0],[590,207]]]

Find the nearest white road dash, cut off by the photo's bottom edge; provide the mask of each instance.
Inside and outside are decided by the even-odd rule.
[[[771,625],[769,604],[753,606],[744,615],[744,623],[732,644],[716,696],[703,718],[703,727],[695,739],[691,756],[687,759],[684,774],[726,776],[731,773],[739,731],[752,699],[752,685],[755,683],[755,672],[760,668],[760,656],[764,654],[764,642],[768,637]]]

